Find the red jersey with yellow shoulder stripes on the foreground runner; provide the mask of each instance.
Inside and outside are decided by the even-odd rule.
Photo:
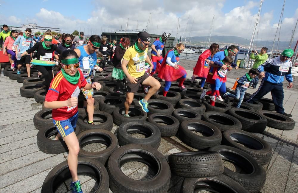
[[[71,97],[77,97],[80,94],[80,88],[86,86],[82,71],[78,69],[80,73],[80,79],[77,84],[69,83],[64,77],[62,72],[58,72],[55,78],[52,80],[49,91],[46,94],[46,101],[66,101]],[[77,106],[75,107],[62,107],[53,109],[52,118],[54,120],[62,121],[69,119],[77,113]]]

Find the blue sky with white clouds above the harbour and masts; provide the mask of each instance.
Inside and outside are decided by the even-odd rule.
[[[176,36],[177,22],[180,18],[182,36],[189,17],[188,29],[183,36],[188,37],[189,35],[209,35],[212,17],[215,15],[212,35],[233,35],[247,39],[251,38],[260,5],[260,1],[247,0],[33,0],[27,1],[26,6],[24,2],[23,0],[0,1],[1,23],[13,26],[36,23],[44,27],[58,27],[65,33],[72,33],[77,29],[91,35],[91,32],[100,34],[100,32],[111,32],[121,27],[125,29],[128,18],[128,29],[136,29],[137,21],[138,29],[145,29],[151,13],[150,33],[156,33],[157,30],[158,34],[165,31]],[[282,7],[283,0],[263,1],[257,27],[257,40],[273,40]],[[290,40],[297,17],[297,0],[287,0],[282,21],[281,41]],[[294,41],[297,38],[298,29],[295,32]]]

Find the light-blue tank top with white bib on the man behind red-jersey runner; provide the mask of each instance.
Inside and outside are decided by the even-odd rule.
[[[87,44],[84,44],[83,46],[79,46],[77,47],[77,49],[80,50],[81,52],[81,56],[79,57],[79,61],[80,61],[80,69],[83,73],[83,76],[89,77],[91,75],[91,69],[96,65],[96,52],[94,52],[93,54],[89,55],[86,53],[84,46]],[[84,69],[85,66],[85,69]],[[87,68],[89,66],[89,69]]]

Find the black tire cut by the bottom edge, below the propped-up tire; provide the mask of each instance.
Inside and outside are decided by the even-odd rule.
[[[194,193],[204,190],[208,192],[248,193],[239,183],[223,174],[208,178],[185,178],[181,192]]]

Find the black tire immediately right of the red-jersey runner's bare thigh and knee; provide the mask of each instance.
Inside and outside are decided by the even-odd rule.
[[[118,140],[114,133],[103,129],[91,129],[78,134],[77,139],[80,145],[78,157],[93,158],[106,164],[110,155],[118,148]],[[83,150],[88,144],[101,143],[106,145],[106,149],[102,151],[89,152]]]

